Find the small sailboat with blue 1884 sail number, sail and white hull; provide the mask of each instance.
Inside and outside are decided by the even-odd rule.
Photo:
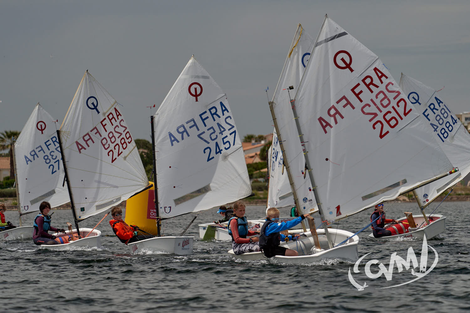
[[[397,220],[398,224],[389,225],[388,229],[392,231],[393,236],[375,238],[370,234],[369,237],[374,240],[393,240],[401,237],[423,239],[425,235],[430,239],[444,232],[446,217],[440,214],[424,214],[424,208],[470,173],[470,134],[434,88],[403,73],[399,85],[408,101],[421,113],[421,118],[429,126],[429,131],[447,158],[459,171],[413,191],[422,215],[407,214],[407,217]]]

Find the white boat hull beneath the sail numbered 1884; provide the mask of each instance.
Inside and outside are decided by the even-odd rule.
[[[429,219],[429,214],[426,215]],[[369,239],[372,240],[402,240],[402,238],[412,238],[412,239],[421,239],[423,240],[424,235],[426,235],[426,239],[431,239],[432,237],[436,237],[437,235],[443,233],[446,230],[446,217],[444,215],[439,215],[439,214],[432,214],[432,218],[434,218],[434,221],[431,222],[427,226],[423,226],[419,229],[416,229],[414,231],[409,231],[404,234],[399,234],[399,235],[394,235],[394,236],[387,236],[387,237],[374,237],[374,234],[371,233],[369,234]],[[413,216],[416,226],[420,226],[423,221],[424,217],[423,215],[421,216]],[[397,221],[405,221],[406,217],[403,217],[401,219],[398,219]]]

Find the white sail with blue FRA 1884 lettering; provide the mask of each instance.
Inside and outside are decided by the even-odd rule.
[[[416,189],[420,203],[434,200],[470,172],[470,134],[434,88],[401,74],[400,88],[415,105],[429,131],[459,171]]]

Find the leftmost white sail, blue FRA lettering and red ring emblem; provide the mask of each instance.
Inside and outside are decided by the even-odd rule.
[[[64,171],[55,122],[38,103],[15,142],[21,214],[39,211],[42,201],[51,207],[70,201],[67,186],[62,185]]]

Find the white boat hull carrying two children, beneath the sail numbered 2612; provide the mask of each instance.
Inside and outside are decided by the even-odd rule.
[[[354,234],[341,229],[328,229],[330,237],[334,239],[334,244],[339,244],[348,237],[352,237]],[[293,230],[290,233],[301,233],[302,230]],[[252,260],[267,260],[271,263],[281,264],[312,264],[321,263],[328,260],[343,260],[349,262],[355,262],[358,260],[357,245],[359,244],[359,237],[353,236],[345,244],[328,249],[328,242],[326,240],[325,231],[323,229],[317,230],[318,237],[320,240],[320,246],[322,251],[312,253],[313,237],[310,232],[306,232],[307,237],[301,237],[299,241],[290,241],[289,243],[282,243],[281,246],[296,250],[298,252],[297,257],[286,257],[276,255],[272,258],[267,259],[262,252],[249,252],[240,255],[235,255],[233,250],[230,250],[228,254],[235,260],[252,261]]]

